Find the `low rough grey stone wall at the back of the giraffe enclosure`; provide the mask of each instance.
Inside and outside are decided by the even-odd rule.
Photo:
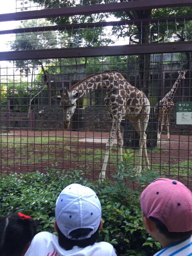
[[[35,128],[39,129],[63,129],[63,108],[58,107],[42,107],[34,108],[35,112]],[[72,116],[70,127],[75,129],[75,115]],[[173,108],[170,121],[170,132],[189,132],[192,135],[192,125],[176,124],[176,107]],[[91,131],[109,131],[111,129],[110,117],[105,106],[89,106],[85,108],[84,113],[84,130]],[[123,129],[121,127],[121,129]],[[164,131],[167,128],[164,127]]]

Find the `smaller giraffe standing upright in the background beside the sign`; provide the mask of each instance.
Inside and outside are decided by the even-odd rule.
[[[163,129],[163,125],[165,123],[165,117],[167,116],[167,139],[170,139],[170,133],[169,133],[169,121],[170,121],[170,114],[171,114],[171,110],[174,106],[174,102],[173,102],[173,97],[176,93],[176,90],[178,88],[178,85],[180,83],[181,78],[185,79],[185,74],[187,71],[185,70],[181,70],[178,71],[179,76],[177,78],[177,80],[175,81],[173,87],[171,88],[171,90],[165,95],[164,98],[162,98],[162,100],[160,102],[158,102],[155,106],[155,113],[157,114],[158,112],[158,132],[157,132],[157,139],[160,140],[161,138],[161,132]],[[160,125],[160,121],[162,119],[161,122],[161,129],[159,131],[159,125]]]

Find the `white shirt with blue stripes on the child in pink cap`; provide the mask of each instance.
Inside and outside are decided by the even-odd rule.
[[[175,242],[162,248],[153,256],[191,256],[192,255],[192,236],[187,240]]]

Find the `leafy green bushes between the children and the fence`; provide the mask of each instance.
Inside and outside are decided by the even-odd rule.
[[[71,183],[91,187],[100,198],[103,228],[98,242],[113,244],[120,256],[150,256],[160,244],[145,231],[140,208],[142,188],[158,176],[154,171],[142,171],[140,175],[131,169],[133,154],[127,152],[114,180],[93,182],[84,178],[82,171],[57,171],[47,173],[10,174],[0,177],[0,216],[19,211],[38,220],[38,231],[54,232],[54,210],[61,190]],[[135,189],[133,189],[135,188]]]

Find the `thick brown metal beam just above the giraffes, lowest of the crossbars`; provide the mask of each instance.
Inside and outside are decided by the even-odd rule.
[[[0,61],[18,59],[49,59],[62,57],[113,56],[143,53],[192,51],[192,42],[145,43],[123,46],[79,47],[0,52]]]

